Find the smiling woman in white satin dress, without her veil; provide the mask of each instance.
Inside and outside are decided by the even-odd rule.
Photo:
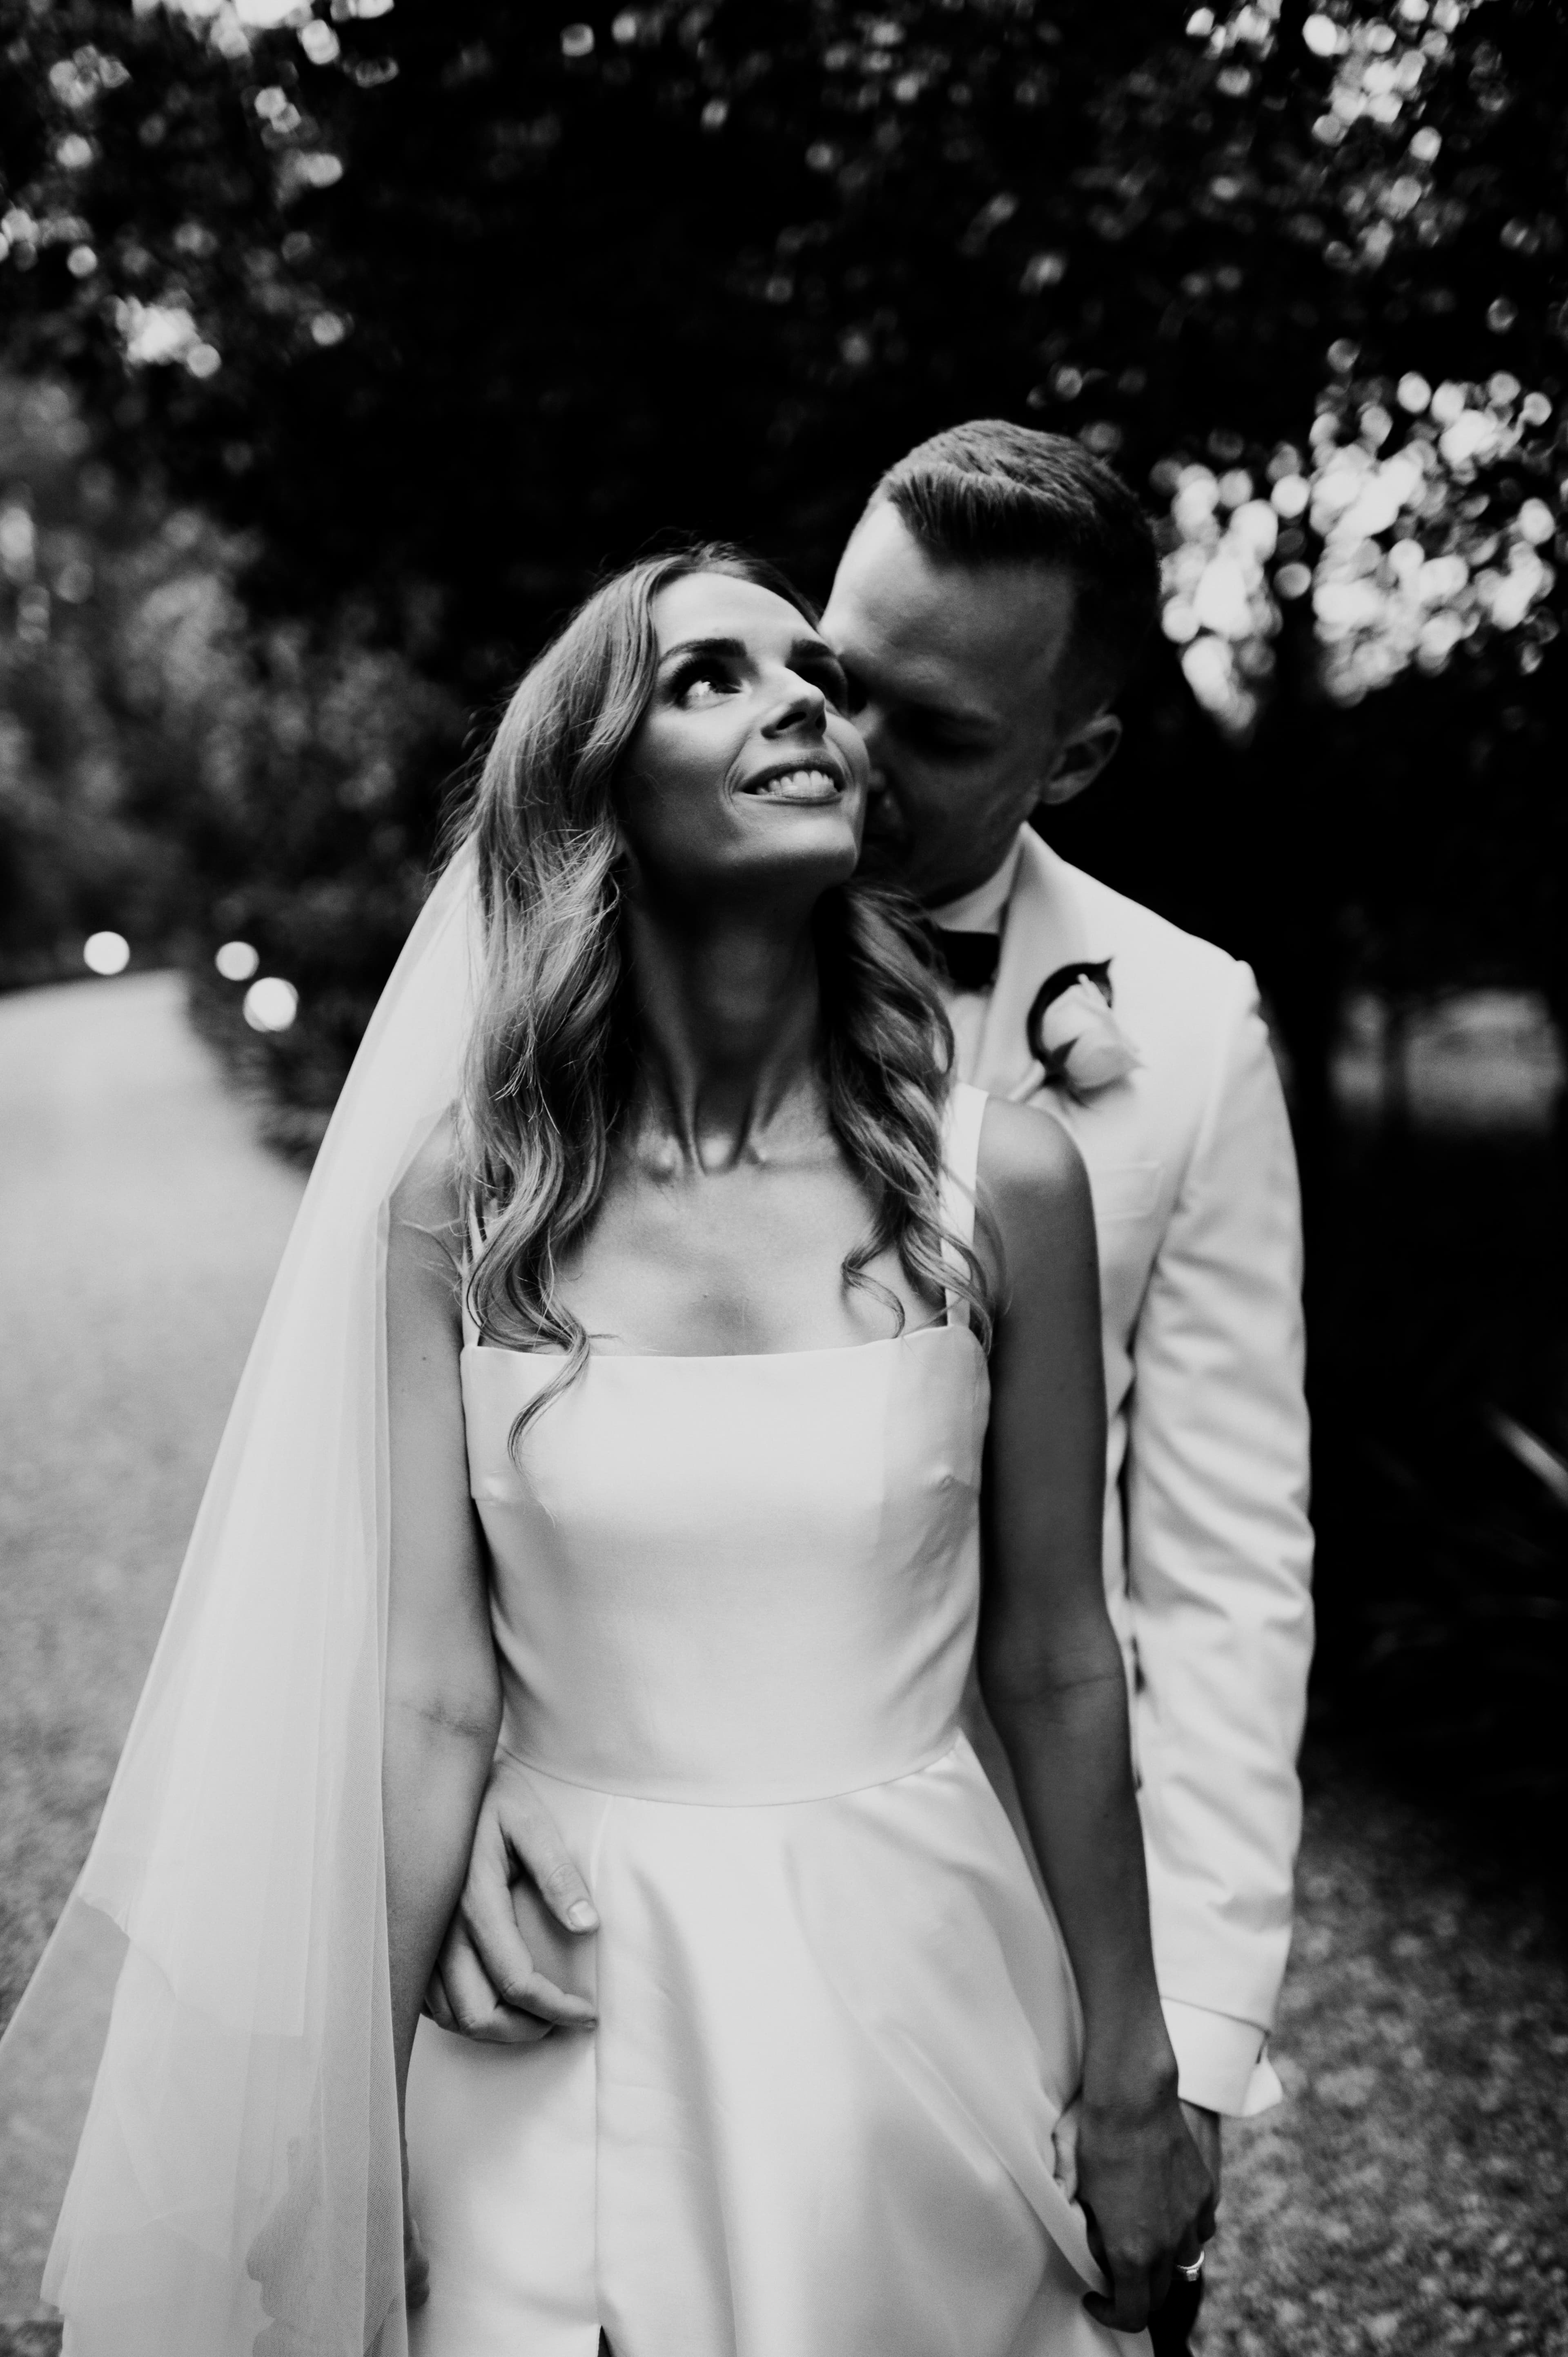
[[[422,2357],[1099,2345],[1080,2084],[1094,2317],[1141,2326],[1198,2218],[1087,1186],[948,1091],[863,797],[832,653],[712,556],[606,587],[479,790],[474,1047],[387,1256],[398,2072],[498,1728],[601,1933],[589,2036],[417,2034]],[[1052,1907],[957,1735],[981,1551]]]

